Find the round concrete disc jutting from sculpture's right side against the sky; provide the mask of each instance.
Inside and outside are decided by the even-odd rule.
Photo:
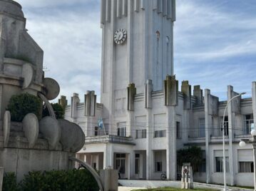
[[[53,100],[58,97],[60,86],[58,85],[58,82],[53,80],[53,78],[44,78],[43,85],[46,88],[45,96],[48,100]]]

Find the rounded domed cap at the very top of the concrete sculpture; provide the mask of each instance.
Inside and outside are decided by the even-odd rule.
[[[20,16],[24,18],[22,7],[16,1],[12,0],[0,0],[0,13],[7,13],[14,16]]]

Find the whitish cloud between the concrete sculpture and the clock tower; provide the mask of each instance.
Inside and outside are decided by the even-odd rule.
[[[83,3],[90,11],[83,11],[81,7],[65,12],[60,7],[43,11],[26,8],[25,11],[26,28],[44,51],[45,76],[58,81],[61,95],[68,100],[73,93],[83,98],[86,91],[96,91],[98,101],[100,98],[100,13],[99,7],[90,9],[89,5],[87,1]]]

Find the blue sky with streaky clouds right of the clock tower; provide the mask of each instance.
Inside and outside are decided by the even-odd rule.
[[[177,1],[175,73],[227,98],[227,85],[251,92],[256,70],[253,1]]]

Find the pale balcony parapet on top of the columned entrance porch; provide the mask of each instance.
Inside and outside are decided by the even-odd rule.
[[[118,135],[99,135],[94,137],[86,137],[86,144],[93,143],[118,143],[126,145],[135,145],[133,138],[121,137]]]

